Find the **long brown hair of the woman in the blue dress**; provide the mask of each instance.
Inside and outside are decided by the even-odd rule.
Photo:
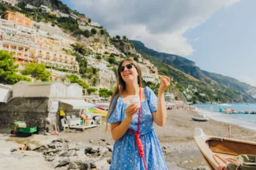
[[[138,73],[137,82],[138,82],[139,87],[142,87],[141,69],[140,69],[139,65],[137,64],[137,62],[135,60],[132,60],[132,59],[122,60],[119,64],[118,68],[120,68],[123,65],[123,62],[125,62],[125,61],[129,61],[129,62],[133,63],[133,65],[135,66],[135,68],[137,70],[137,73]],[[125,90],[125,87],[126,87],[125,81],[123,80],[120,71],[117,71],[117,87],[116,87],[115,92],[113,93],[113,95],[110,99],[110,105],[108,107],[108,116],[106,116],[105,132],[108,130],[108,118],[111,116],[111,114],[115,110],[115,107],[116,107],[116,104],[117,104],[117,99],[121,96],[121,94]],[[116,95],[117,95],[117,97],[115,97]],[[115,101],[113,101],[114,97],[115,97]],[[111,106],[112,102],[114,102],[114,104],[113,104],[112,109],[110,110],[110,106]]]

